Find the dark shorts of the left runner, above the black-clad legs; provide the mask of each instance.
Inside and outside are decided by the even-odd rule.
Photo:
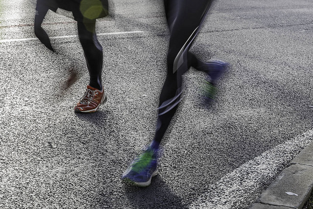
[[[77,22],[95,23],[98,18],[108,15],[108,0],[38,0],[52,11],[58,8],[71,11]]]

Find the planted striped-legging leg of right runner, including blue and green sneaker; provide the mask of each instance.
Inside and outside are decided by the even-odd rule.
[[[204,0],[199,2],[207,3]],[[156,135],[151,145],[122,174],[122,179],[138,186],[149,186],[151,178],[157,174],[158,146],[180,101],[182,74],[188,70],[187,52],[197,35],[202,18],[202,15],[196,15],[199,20],[190,20],[203,9],[203,4],[194,8],[195,4],[197,3],[187,0],[164,0],[171,37],[167,54],[167,76],[160,94]]]

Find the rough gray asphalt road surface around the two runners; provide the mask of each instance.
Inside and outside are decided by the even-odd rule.
[[[168,32],[162,1],[116,0],[112,12],[98,33],[143,33],[98,37],[108,101],[95,114],[73,112],[88,83],[77,37],[52,39],[56,53],[38,40],[0,42],[0,208],[188,208],[208,185],[313,129],[313,2],[219,0],[192,47],[231,63],[216,103],[200,105],[205,75],[191,69],[160,175],[147,188],[123,184],[154,134]],[[0,40],[34,38],[34,13],[34,0],[1,0]],[[44,23],[51,37],[77,33],[52,12]],[[79,80],[64,92],[72,66]],[[249,207],[273,179],[233,208]]]

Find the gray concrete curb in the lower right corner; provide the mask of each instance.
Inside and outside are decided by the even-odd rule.
[[[249,209],[302,209],[312,188],[313,142],[291,161]]]

